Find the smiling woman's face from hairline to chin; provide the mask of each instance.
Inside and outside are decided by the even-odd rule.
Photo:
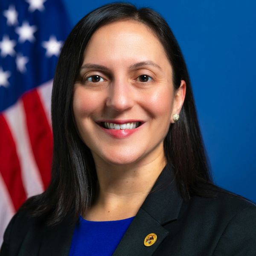
[[[163,46],[148,27],[125,20],[99,28],[73,95],[76,125],[94,160],[122,165],[163,157],[182,105],[176,92]]]

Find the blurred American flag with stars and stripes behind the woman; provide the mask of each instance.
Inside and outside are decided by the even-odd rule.
[[[1,0],[0,28],[1,245],[12,215],[50,180],[52,79],[70,22],[61,0]]]

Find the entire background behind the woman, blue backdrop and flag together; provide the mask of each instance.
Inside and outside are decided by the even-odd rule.
[[[12,215],[49,184],[50,97],[61,45],[112,1],[0,1],[0,244]],[[256,202],[256,2],[137,0],[172,28],[188,66],[214,182]]]

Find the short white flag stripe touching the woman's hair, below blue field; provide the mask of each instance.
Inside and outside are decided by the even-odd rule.
[[[44,107],[48,122],[51,125],[52,80],[37,87],[37,91]]]

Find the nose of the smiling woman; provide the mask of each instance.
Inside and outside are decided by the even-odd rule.
[[[125,111],[132,108],[134,97],[131,84],[125,81],[112,81],[109,86],[106,105],[116,111]]]

